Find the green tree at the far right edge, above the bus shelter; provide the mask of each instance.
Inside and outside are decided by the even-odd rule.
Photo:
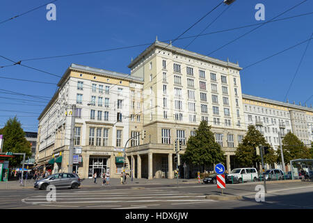
[[[310,159],[312,157],[309,148],[291,132],[288,132],[282,139],[282,153],[284,154],[285,163],[290,162],[290,160]],[[278,159],[281,160],[280,154]]]

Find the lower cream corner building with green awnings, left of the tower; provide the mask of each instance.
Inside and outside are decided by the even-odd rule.
[[[51,174],[68,171],[74,115],[73,170],[81,178],[95,173],[101,176],[106,171],[120,176],[125,142],[135,129],[141,130],[141,118],[129,127],[130,112],[141,109],[141,105],[130,109],[129,103],[141,103],[141,97],[129,100],[129,95],[141,95],[141,91],[140,78],[72,64],[38,118],[38,166]],[[76,106],[74,111],[72,105]]]

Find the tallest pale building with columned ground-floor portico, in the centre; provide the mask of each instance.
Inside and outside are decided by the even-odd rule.
[[[234,151],[246,130],[239,65],[156,41],[128,67],[131,77],[143,79],[147,135],[140,146],[127,148],[134,176],[172,178],[175,140],[182,141],[180,153],[184,153],[186,140],[202,120],[212,126],[230,171]],[[198,169],[186,174],[194,171]]]

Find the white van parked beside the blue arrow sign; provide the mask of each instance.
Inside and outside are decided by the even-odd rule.
[[[247,181],[257,181],[257,169],[236,168],[227,176],[227,183],[243,183]]]

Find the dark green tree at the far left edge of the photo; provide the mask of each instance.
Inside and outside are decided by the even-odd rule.
[[[31,156],[31,144],[26,140],[25,132],[16,116],[8,119],[4,128],[0,130],[0,134],[3,134],[3,153],[26,153],[25,158]],[[22,155],[10,158],[10,167],[19,167],[22,160]]]

